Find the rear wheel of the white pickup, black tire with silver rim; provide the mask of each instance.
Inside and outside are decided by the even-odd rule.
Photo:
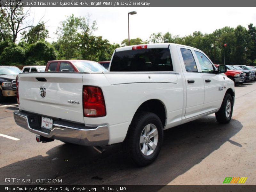
[[[148,131],[149,134],[146,134],[146,130],[148,130],[146,125],[148,125],[147,128],[150,130]],[[156,130],[157,136],[153,136],[153,132],[156,134]],[[142,134],[143,136],[141,136]],[[150,136],[152,137],[151,139]],[[141,137],[144,137],[143,143],[140,142]],[[152,148],[152,143],[156,143],[154,150]],[[123,150],[134,164],[138,166],[146,166],[156,160],[162,143],[163,124],[160,118],[154,113],[142,112],[132,120],[130,130],[123,143]],[[144,155],[142,153],[143,148],[144,152],[148,152],[148,154]],[[145,150],[145,148],[147,149]]]

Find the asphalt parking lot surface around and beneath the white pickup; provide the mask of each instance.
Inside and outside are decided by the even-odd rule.
[[[222,185],[226,177],[247,177],[243,185],[256,185],[256,82],[235,92],[229,124],[210,115],[166,130],[156,162],[143,168],[130,164],[119,144],[100,154],[57,140],[37,143],[15,124],[18,106],[8,99],[0,103],[0,185],[45,184],[6,182],[11,177],[62,180],[50,185]]]

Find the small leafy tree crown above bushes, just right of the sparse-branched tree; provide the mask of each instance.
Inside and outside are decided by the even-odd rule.
[[[21,33],[21,39],[28,44],[33,44],[37,41],[44,41],[47,37],[49,37],[48,33],[49,31],[45,28],[44,22],[41,22],[28,31],[23,31]]]

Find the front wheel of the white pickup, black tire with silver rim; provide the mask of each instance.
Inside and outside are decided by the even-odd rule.
[[[230,106],[229,108],[226,108],[228,107],[227,106],[228,101],[230,101]],[[227,112],[228,109],[230,109],[229,113]],[[222,101],[219,111],[215,113],[215,116],[219,123],[226,124],[226,123],[229,123],[229,121],[231,120],[232,113],[233,113],[233,98],[229,93],[227,93]]]

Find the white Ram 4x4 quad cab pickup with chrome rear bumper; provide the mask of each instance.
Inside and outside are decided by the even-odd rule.
[[[228,123],[234,82],[204,52],[180,44],[117,48],[107,72],[41,72],[18,76],[15,122],[36,133],[86,146],[123,142],[145,166],[160,152],[163,130],[215,113]]]

